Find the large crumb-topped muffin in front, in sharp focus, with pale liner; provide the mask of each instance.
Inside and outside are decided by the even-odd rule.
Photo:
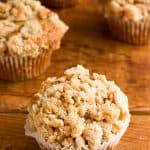
[[[130,122],[120,88],[80,65],[43,82],[28,111],[25,134],[42,150],[107,150]]]

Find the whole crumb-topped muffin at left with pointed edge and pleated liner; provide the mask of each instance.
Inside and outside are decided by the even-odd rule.
[[[0,79],[41,75],[68,27],[35,0],[0,2]]]

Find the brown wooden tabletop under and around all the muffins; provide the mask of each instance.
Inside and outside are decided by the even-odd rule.
[[[0,150],[38,150],[24,136],[26,107],[41,82],[59,76],[64,69],[82,64],[105,74],[129,97],[132,121],[117,150],[150,149],[150,46],[133,46],[111,39],[96,0],[59,11],[70,26],[62,48],[55,51],[52,65],[38,79],[11,83],[0,81]]]

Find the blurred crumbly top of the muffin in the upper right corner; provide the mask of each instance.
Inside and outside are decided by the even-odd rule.
[[[150,16],[150,0],[100,0],[105,17],[141,21]]]

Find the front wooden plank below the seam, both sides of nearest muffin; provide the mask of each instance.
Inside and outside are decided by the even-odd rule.
[[[25,114],[0,114],[0,150],[39,150],[34,139],[24,136]],[[5,125],[4,125],[5,123]],[[132,116],[130,127],[116,150],[149,150],[150,117]]]

